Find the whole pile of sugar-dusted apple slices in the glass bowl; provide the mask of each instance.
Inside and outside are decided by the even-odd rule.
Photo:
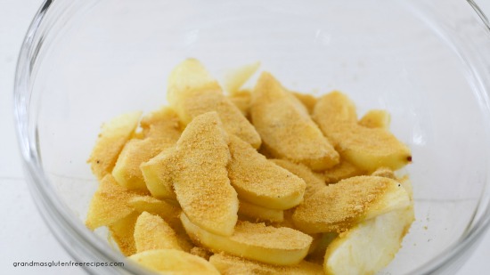
[[[257,68],[238,69],[225,95],[186,60],[169,107],[103,125],[86,226],[166,274],[379,271],[413,221],[410,182],[393,172],[412,157],[388,113],[357,120],[344,94],[290,92],[266,72],[241,89]]]

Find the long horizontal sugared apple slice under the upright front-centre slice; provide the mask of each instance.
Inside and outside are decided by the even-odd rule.
[[[300,231],[264,223],[239,221],[232,236],[220,236],[193,224],[184,213],[181,221],[192,241],[200,246],[261,263],[297,264],[306,256],[312,242],[310,236]]]

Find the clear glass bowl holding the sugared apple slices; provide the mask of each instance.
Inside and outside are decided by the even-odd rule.
[[[31,193],[76,260],[124,262],[83,224],[102,122],[166,104],[167,75],[184,58],[218,78],[261,61],[291,89],[339,89],[361,115],[388,109],[412,149],[416,221],[380,273],[455,272],[490,222],[489,49],[485,16],[459,0],[46,1],[15,82]]]

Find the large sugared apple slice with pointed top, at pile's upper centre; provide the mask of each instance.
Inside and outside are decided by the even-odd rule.
[[[339,154],[314,124],[307,109],[269,73],[262,73],[252,93],[252,123],[275,158],[324,170]]]

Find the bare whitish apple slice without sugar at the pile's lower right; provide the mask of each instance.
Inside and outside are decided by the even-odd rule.
[[[327,248],[323,268],[326,274],[374,274],[390,263],[414,220],[408,206],[371,220],[340,234]]]

